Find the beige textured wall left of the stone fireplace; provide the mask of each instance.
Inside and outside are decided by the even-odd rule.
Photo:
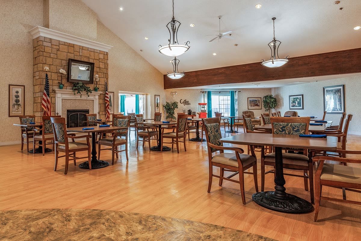
[[[9,84],[25,85],[25,114],[32,115],[32,36],[28,31],[43,24],[43,1],[1,0],[0,48],[0,116],[3,131],[0,145],[20,141],[20,130],[14,123],[19,117],[8,117]]]

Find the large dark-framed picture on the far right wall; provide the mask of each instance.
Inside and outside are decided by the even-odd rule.
[[[345,85],[323,87],[323,111],[330,114],[345,112]]]

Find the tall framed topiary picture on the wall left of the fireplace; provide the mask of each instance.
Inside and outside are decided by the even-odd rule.
[[[9,85],[9,117],[25,115],[25,85]]]

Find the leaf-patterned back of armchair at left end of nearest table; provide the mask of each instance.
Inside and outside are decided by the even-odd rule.
[[[222,142],[220,141],[222,135],[221,125],[219,124],[218,117],[205,118],[202,121],[203,125],[205,126],[204,132],[207,139],[207,144],[210,143],[215,146],[223,146]],[[210,147],[209,145],[208,150],[211,152],[217,151],[216,148]]]

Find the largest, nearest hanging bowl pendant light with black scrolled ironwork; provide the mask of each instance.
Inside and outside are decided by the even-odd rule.
[[[159,46],[159,52],[168,55],[168,56],[179,56],[182,55],[184,52],[186,52],[190,46],[188,46],[189,41],[185,42],[184,44],[178,43],[178,30],[179,26],[181,26],[181,23],[174,18],[174,0],[173,0],[173,17],[172,20],[166,25],[169,31],[169,39],[168,39],[168,45],[165,46]]]

